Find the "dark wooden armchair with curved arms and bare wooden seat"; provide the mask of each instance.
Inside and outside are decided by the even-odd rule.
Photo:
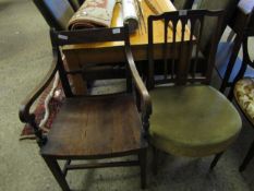
[[[34,128],[40,155],[47,163],[62,190],[70,190],[65,180],[68,170],[140,166],[142,188],[146,184],[146,148],[148,118],[152,112],[149,95],[140,79],[130,49],[128,26],[76,32],[51,31],[53,61],[40,85],[27,96],[20,109],[22,122]],[[83,75],[84,71],[69,71],[62,62],[61,47],[84,43],[123,41],[125,44],[126,91],[107,95],[76,96],[72,93],[69,76]],[[98,64],[97,64],[98,65]],[[31,106],[59,72],[65,94],[50,132],[45,135],[35,122]],[[75,164],[75,159],[102,159],[136,155],[136,160]],[[65,160],[60,169],[58,160]]]

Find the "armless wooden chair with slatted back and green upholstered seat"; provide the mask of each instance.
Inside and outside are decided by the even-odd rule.
[[[209,51],[204,53],[206,70],[198,72],[191,55],[196,57],[201,51],[198,47],[204,36],[202,29],[205,28],[205,17],[213,17],[216,27],[210,33],[213,40],[207,47]],[[242,126],[233,105],[209,85],[222,17],[221,11],[205,10],[168,12],[148,17],[149,63],[146,82],[153,105],[149,127],[150,144],[156,152],[164,151],[173,155],[190,157],[216,155],[210,168],[238,138]],[[157,46],[153,39],[153,22],[158,20],[165,21],[165,26],[161,28],[166,31],[165,34],[169,28],[173,31],[171,38],[165,35],[162,62],[154,62]],[[168,27],[169,22],[170,27]],[[177,33],[176,23],[178,22],[184,26],[182,32],[188,31],[185,24],[189,22],[191,34],[181,35],[180,29]],[[176,40],[179,35],[180,39],[190,40],[179,41],[179,38]],[[167,44],[167,39],[172,41]],[[159,53],[158,49],[156,49],[157,53]],[[168,53],[172,53],[172,60],[167,59]],[[161,64],[165,72],[161,75],[155,75],[154,64]]]

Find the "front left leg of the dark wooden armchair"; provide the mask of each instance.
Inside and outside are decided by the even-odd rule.
[[[45,157],[45,156],[44,156],[44,159],[46,164],[48,165],[49,169],[51,170],[51,172],[53,174],[53,177],[58,181],[59,186],[62,188],[62,190],[71,191],[65,180],[65,177],[62,174],[60,166],[58,165],[58,162],[51,157]]]

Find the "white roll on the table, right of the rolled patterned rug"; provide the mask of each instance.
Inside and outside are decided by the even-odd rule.
[[[138,27],[138,17],[135,9],[135,0],[122,0],[123,22],[129,24],[130,33]]]

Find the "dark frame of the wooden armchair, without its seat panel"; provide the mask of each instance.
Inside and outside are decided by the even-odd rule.
[[[99,168],[99,167],[140,166],[142,188],[145,188],[146,186],[146,148],[147,148],[146,138],[148,134],[147,132],[148,127],[149,127],[148,118],[152,112],[152,105],[150,105],[148,92],[146,91],[146,87],[143,84],[138,75],[138,72],[135,68],[135,63],[134,63],[133,56],[132,56],[131,48],[130,48],[128,25],[125,24],[124,27],[117,27],[117,28],[95,28],[95,29],[84,29],[84,31],[75,31],[75,32],[64,32],[64,31],[56,32],[55,29],[51,29],[50,36],[51,36],[52,52],[53,52],[53,60],[52,60],[50,71],[47,73],[46,77],[41,81],[41,83],[22,103],[21,108],[20,108],[20,119],[22,122],[29,123],[29,126],[33,127],[35,135],[37,138],[37,143],[40,147],[40,155],[43,156],[46,164],[50,168],[59,186],[64,191],[70,190],[69,184],[65,180],[68,170]],[[34,102],[39,97],[39,95],[44,92],[44,89],[50,84],[50,82],[52,81],[57,72],[59,72],[59,76],[60,76],[61,84],[62,84],[66,99],[75,98],[75,99],[81,99],[82,102],[89,97],[94,97],[94,99],[97,99],[97,98],[99,99],[99,98],[108,96],[108,95],[100,95],[100,96],[93,96],[93,95],[76,96],[74,95],[72,92],[68,75],[77,75],[77,74],[83,75],[84,71],[82,69],[75,70],[75,71],[66,71],[64,69],[64,64],[61,59],[62,55],[61,55],[60,47],[64,45],[76,45],[76,44],[99,43],[99,41],[123,41],[125,44],[123,51],[125,52],[125,58],[126,58],[126,92],[122,94],[136,97],[135,98],[136,104],[134,103],[134,105],[136,105],[137,111],[140,111],[140,114],[136,111],[138,114],[136,116],[136,119],[141,121],[140,148],[128,150],[128,146],[124,147],[124,145],[122,145],[124,150],[120,153],[112,152],[112,153],[101,154],[101,155],[98,154],[98,155],[84,155],[84,156],[81,154],[78,155],[68,154],[69,151],[63,154],[60,154],[60,153],[48,154],[46,151],[49,147],[55,148],[56,146],[58,147],[58,145],[55,146],[52,145],[53,142],[49,141],[49,135],[51,131],[49,132],[49,135],[43,134],[43,130],[36,123],[35,114],[31,111],[31,107],[34,104]],[[116,98],[118,97],[118,95],[122,95],[122,94],[120,93],[116,94]],[[93,102],[93,99],[89,99],[89,100]],[[124,103],[122,104],[124,105]],[[119,118],[121,118],[121,116],[119,116]],[[128,127],[128,128],[131,128],[131,127]],[[116,138],[116,139],[121,139],[121,136]],[[98,142],[100,140],[98,140]],[[78,164],[78,165],[71,164],[71,162],[75,159],[102,159],[102,158],[113,158],[113,157],[120,157],[120,156],[126,156],[126,155],[137,155],[137,160]],[[61,169],[60,166],[58,165],[59,159],[66,160],[63,169]]]

